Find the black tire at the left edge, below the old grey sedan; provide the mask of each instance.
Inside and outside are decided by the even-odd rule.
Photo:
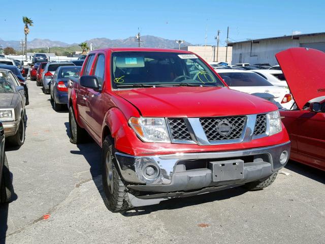
[[[13,186],[10,177],[9,165],[5,154],[5,164],[2,172],[2,180],[0,184],[0,203],[6,203],[11,201],[11,195],[13,193]]]

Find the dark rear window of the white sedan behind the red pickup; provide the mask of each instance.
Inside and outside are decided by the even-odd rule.
[[[255,73],[229,72],[219,75],[229,86],[272,86],[269,81]]]

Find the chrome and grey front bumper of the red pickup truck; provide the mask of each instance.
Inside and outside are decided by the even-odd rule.
[[[287,159],[280,163],[280,155],[283,151],[287,152]],[[121,176],[131,184],[127,186],[128,188],[166,193],[207,187],[238,186],[262,179],[285,166],[289,154],[290,142],[288,141],[267,147],[212,153],[142,157],[115,153],[115,156]],[[213,165],[224,162],[243,164],[242,176],[228,175],[226,180],[216,180]],[[148,165],[157,168],[158,177],[150,179],[145,176],[144,171]]]

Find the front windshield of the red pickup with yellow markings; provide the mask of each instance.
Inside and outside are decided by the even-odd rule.
[[[113,88],[131,86],[224,86],[194,54],[176,52],[114,52]]]

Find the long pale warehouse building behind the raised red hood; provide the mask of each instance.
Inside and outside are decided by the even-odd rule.
[[[290,47],[309,47],[325,52],[325,33],[272,37],[229,43],[232,63],[277,65],[275,54]]]

